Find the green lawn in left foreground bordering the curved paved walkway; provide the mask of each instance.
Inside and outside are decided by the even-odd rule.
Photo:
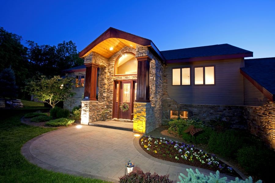
[[[98,179],[82,178],[44,170],[29,163],[20,153],[21,147],[32,138],[56,128],[34,127],[20,123],[24,111],[0,120],[0,182],[91,182],[107,183]]]

